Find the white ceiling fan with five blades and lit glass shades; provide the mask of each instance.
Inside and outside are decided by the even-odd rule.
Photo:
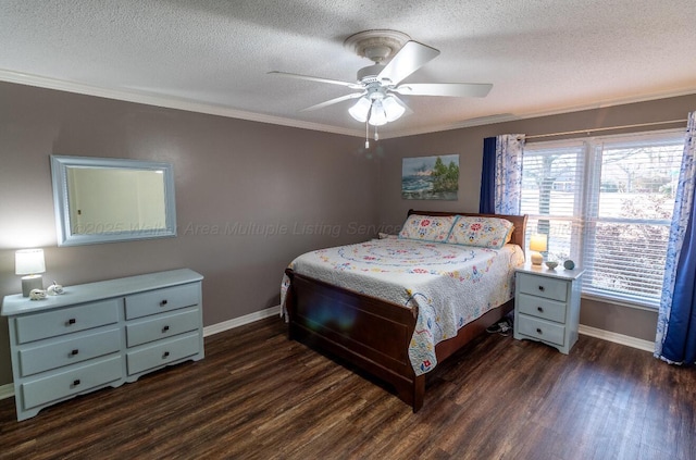
[[[370,59],[374,64],[358,71],[357,82],[341,82],[309,75],[273,71],[269,74],[310,82],[328,83],[358,90],[302,111],[312,111],[325,107],[358,99],[348,112],[361,122],[381,126],[399,119],[410,111],[397,96],[440,96],[440,97],[485,97],[493,85],[472,83],[401,83],[413,72],[435,59],[439,51],[427,45],[413,41],[403,33],[396,30],[365,30],[351,35],[344,46],[358,55]]]

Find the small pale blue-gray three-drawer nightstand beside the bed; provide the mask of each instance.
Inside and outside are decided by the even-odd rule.
[[[546,265],[517,269],[514,338],[543,341],[568,355],[577,341],[583,273]]]

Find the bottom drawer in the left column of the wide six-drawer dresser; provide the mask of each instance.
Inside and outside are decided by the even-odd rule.
[[[66,396],[87,391],[119,381],[122,374],[121,356],[22,384],[24,409],[30,409]]]

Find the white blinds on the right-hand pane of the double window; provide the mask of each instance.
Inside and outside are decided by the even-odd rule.
[[[637,136],[592,146],[583,287],[658,303],[683,136]]]

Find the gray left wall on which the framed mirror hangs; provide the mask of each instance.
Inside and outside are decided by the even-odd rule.
[[[361,153],[362,145],[356,137],[0,83],[0,296],[21,291],[14,251],[41,247],[46,286],[186,266],[206,277],[206,325],[276,306],[283,270],[296,256],[374,234],[359,232],[378,215],[380,165]],[[178,237],[57,247],[51,153],[172,162]],[[235,224],[237,232],[225,231]],[[283,234],[241,234],[250,225]],[[12,381],[7,334],[1,319],[0,385]]]

